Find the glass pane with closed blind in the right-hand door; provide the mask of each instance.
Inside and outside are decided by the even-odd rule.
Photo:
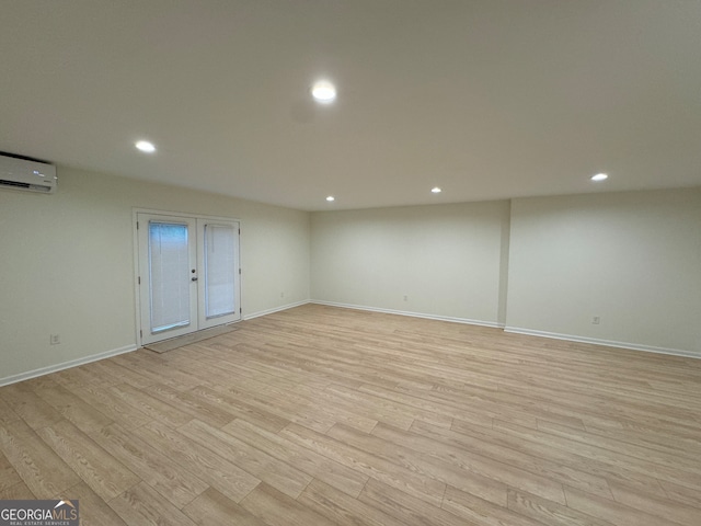
[[[237,230],[232,225],[205,225],[205,317],[235,310]]]

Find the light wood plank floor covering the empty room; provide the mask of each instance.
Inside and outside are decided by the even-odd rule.
[[[308,305],[0,388],[83,524],[701,525],[701,361]]]

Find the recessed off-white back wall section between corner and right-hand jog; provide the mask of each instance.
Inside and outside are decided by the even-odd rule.
[[[508,217],[508,202],[313,213],[311,297],[503,322]]]

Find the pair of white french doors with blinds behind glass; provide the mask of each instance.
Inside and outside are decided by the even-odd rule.
[[[241,319],[239,222],[137,213],[141,345]]]

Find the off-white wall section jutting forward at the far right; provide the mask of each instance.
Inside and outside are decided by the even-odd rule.
[[[507,301],[510,329],[701,355],[701,188],[514,199]]]

